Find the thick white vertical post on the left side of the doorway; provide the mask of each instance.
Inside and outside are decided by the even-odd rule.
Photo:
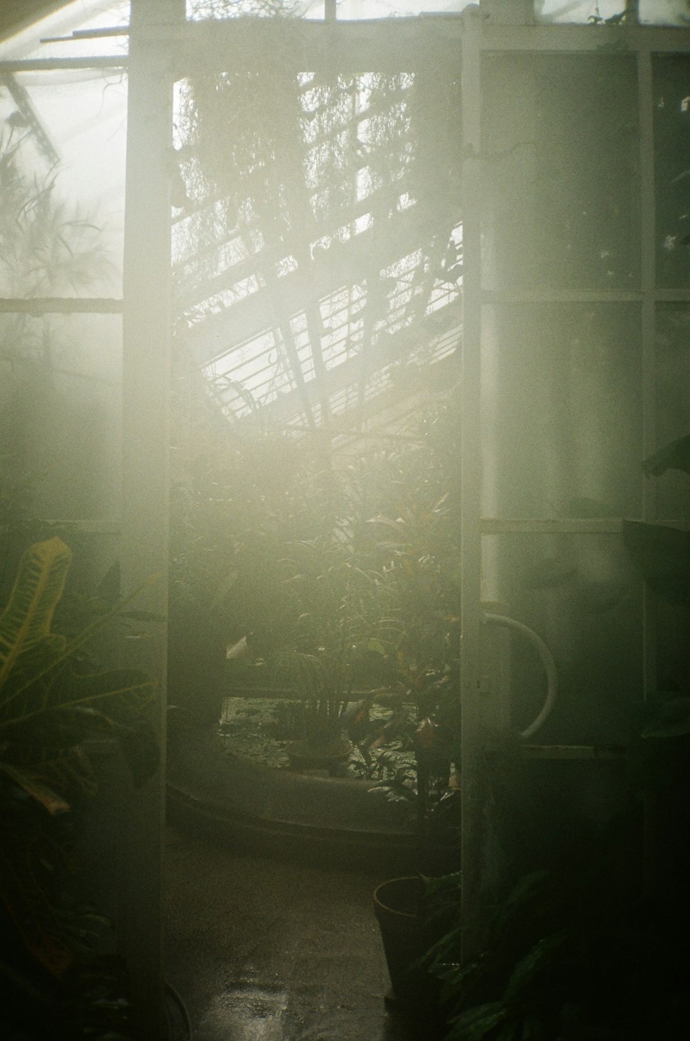
[[[171,50],[165,30],[184,0],[132,0],[124,256],[123,588],[158,576],[137,606],[167,613],[170,388]],[[130,793],[124,815],[118,943],[127,959],[135,1026],[165,1036],[162,861],[165,805],[165,626],[141,641],[136,664],[158,679],[152,718],[161,767]]]

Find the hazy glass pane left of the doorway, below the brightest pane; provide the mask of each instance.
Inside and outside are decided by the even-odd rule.
[[[0,464],[29,517],[120,516],[118,315],[0,314]],[[20,504],[21,505],[21,504]]]

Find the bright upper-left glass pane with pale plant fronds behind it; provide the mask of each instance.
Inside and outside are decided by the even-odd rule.
[[[6,76],[0,95],[0,295],[120,297],[122,72]]]

